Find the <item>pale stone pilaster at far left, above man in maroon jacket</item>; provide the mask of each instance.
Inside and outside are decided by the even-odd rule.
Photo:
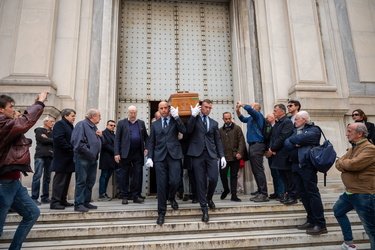
[[[4,41],[10,49],[8,61],[2,67],[7,69],[0,80],[2,92],[11,93],[20,106],[28,106],[35,94],[48,90],[49,102],[46,113],[56,117],[59,99],[55,96],[56,86],[51,80],[53,50],[56,31],[56,0],[28,0],[3,2],[3,12],[7,7],[14,16],[16,25],[9,27],[12,36]],[[1,23],[9,24],[7,15],[2,15]],[[8,17],[9,18],[9,17]]]

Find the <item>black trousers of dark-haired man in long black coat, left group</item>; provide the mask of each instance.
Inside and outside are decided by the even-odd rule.
[[[52,182],[52,197],[50,206],[66,204],[72,172],[55,172]]]

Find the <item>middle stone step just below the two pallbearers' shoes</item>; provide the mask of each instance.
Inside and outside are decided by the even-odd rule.
[[[327,226],[337,225],[332,212],[327,212],[325,218]],[[164,235],[170,232],[175,234],[200,234],[202,231],[218,233],[222,231],[254,231],[260,229],[289,230],[303,224],[306,216],[303,214],[272,214],[215,217],[215,215],[211,214],[209,223],[203,223],[200,219],[200,216],[185,219],[166,217],[166,223],[163,226],[157,225],[155,223],[156,219],[36,224],[29,233],[28,240],[57,240],[75,237],[80,239],[130,237],[135,235]],[[360,224],[360,220],[355,213],[350,213],[349,219],[353,225]],[[4,228],[1,241],[10,241],[16,228],[17,225]]]

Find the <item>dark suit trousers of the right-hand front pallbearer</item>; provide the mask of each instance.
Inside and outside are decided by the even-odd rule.
[[[208,151],[204,150],[200,156],[192,157],[192,163],[197,183],[198,201],[202,212],[207,213],[207,200],[212,200],[219,177],[217,160],[216,158],[211,158]]]

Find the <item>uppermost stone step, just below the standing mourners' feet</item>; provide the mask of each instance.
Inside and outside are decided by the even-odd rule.
[[[252,201],[243,201],[240,203],[234,203],[229,200],[215,200],[217,208],[210,210],[210,214],[218,216],[227,215],[251,215],[251,214],[275,214],[275,213],[305,213],[305,209],[301,202],[286,206],[278,201],[272,200],[270,202],[255,203]],[[96,210],[90,210],[88,213],[78,213],[74,212],[73,207],[68,207],[65,210],[57,211],[50,210],[49,205],[43,204],[39,208],[41,210],[41,215],[38,219],[38,224],[40,223],[71,223],[76,221],[108,221],[108,220],[135,220],[135,219],[145,219],[145,218],[155,218],[157,217],[157,201],[150,200],[145,204],[129,204],[122,205],[121,201],[115,200],[110,202],[95,202],[99,208]],[[201,216],[202,212],[199,205],[192,204],[191,202],[179,201],[180,208],[178,210],[172,210],[168,207],[167,217],[173,218],[185,218],[192,216]],[[334,205],[333,201],[323,202],[325,211],[332,211]],[[21,217],[16,213],[11,213],[6,218],[7,225],[16,225],[21,220]]]

